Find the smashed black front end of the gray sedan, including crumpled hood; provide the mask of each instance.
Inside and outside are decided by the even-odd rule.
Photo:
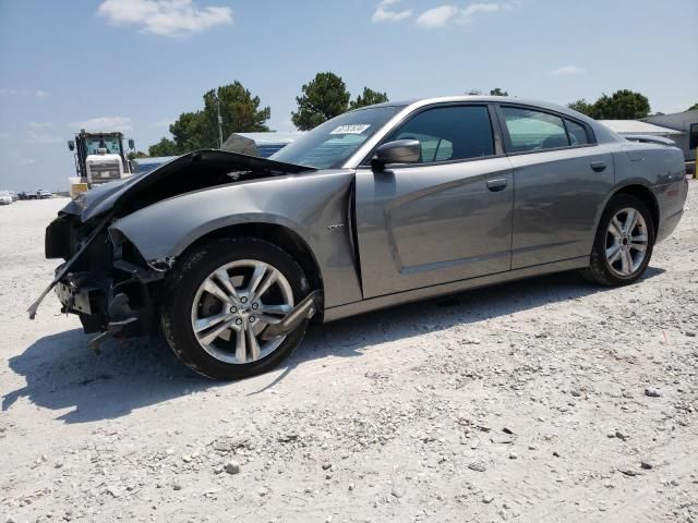
[[[56,276],[29,307],[56,290],[61,312],[76,314],[85,332],[106,337],[151,335],[157,330],[157,293],[174,265],[173,256],[144,259],[118,228],[118,221],[163,199],[242,180],[312,169],[273,160],[200,150],[122,183],[105,184],[63,208],[46,230],[46,257],[63,258]],[[148,227],[148,223],[143,223]]]

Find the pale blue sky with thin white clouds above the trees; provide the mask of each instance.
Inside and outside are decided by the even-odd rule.
[[[278,131],[318,71],[394,100],[630,88],[676,112],[698,102],[696,27],[696,0],[0,0],[0,190],[64,190],[82,126],[147,150],[236,80]]]

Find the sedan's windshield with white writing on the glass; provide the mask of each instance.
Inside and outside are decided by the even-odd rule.
[[[317,169],[341,167],[400,109],[402,106],[381,106],[345,112],[287,145],[270,159]]]

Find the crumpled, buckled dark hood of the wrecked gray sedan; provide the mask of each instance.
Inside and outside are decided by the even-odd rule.
[[[118,182],[105,183],[87,191],[68,204],[61,214],[80,215],[81,220],[85,222],[107,211],[117,210],[143,194],[148,194],[143,206],[152,205],[158,200],[157,194],[154,195],[156,184],[165,187],[165,184],[171,183],[171,186],[163,191],[163,197],[159,198],[166,199],[178,194],[217,185],[219,183],[216,181],[231,172],[255,171],[262,173],[260,178],[264,178],[264,175],[272,177],[314,170],[312,167],[285,163],[238,153],[200,149],[180,156],[151,172],[136,174]],[[188,179],[186,177],[195,178]],[[232,182],[230,179],[227,180]],[[182,183],[182,181],[186,183]],[[147,193],[148,191],[149,193]]]

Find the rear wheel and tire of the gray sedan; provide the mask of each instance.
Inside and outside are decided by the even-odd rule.
[[[585,279],[605,287],[637,281],[650,263],[654,222],[645,203],[629,194],[611,198],[601,217]]]

